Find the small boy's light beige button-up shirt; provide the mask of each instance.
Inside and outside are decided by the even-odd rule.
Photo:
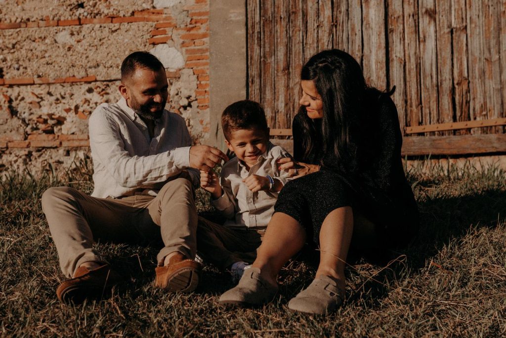
[[[288,180],[286,171],[279,172],[276,161],[291,157],[285,149],[269,142],[264,155],[260,156],[258,163],[249,171],[237,157],[227,162],[220,174],[220,184],[223,195],[213,200],[213,205],[228,219],[226,227],[232,228],[265,228],[274,213],[278,193],[259,191],[252,193],[242,181],[244,178],[256,174],[271,176],[278,179],[283,185]]]

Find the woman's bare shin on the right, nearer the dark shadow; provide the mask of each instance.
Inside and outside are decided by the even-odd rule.
[[[316,277],[330,276],[345,287],[345,265],[353,235],[353,210],[342,207],[331,211],[320,230],[320,264]]]

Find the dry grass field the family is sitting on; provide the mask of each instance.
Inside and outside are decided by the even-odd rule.
[[[90,170],[85,164],[60,176],[6,174],[0,183],[0,335],[506,335],[505,173],[420,166],[408,172],[421,215],[418,239],[387,260],[355,254],[348,298],[328,317],[287,311],[289,299],[311,282],[310,261],[283,269],[271,304],[230,310],[218,305],[232,286],[227,274],[205,267],[195,293],[168,294],[153,286],[156,248],[109,243],[98,249],[128,272],[128,283],[104,301],[63,306],[55,289],[64,277],[40,195],[54,185],[91,192]],[[209,208],[205,195],[199,201],[200,210]]]

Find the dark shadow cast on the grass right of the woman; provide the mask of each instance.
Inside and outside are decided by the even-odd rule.
[[[390,293],[393,281],[404,279],[409,271],[423,269],[449,242],[458,241],[470,231],[496,227],[505,219],[506,192],[488,189],[465,196],[427,198],[418,203],[418,208],[420,231],[407,248],[350,252],[347,278],[352,292],[347,303],[366,307],[380,304]],[[372,265],[376,268],[370,269]]]

